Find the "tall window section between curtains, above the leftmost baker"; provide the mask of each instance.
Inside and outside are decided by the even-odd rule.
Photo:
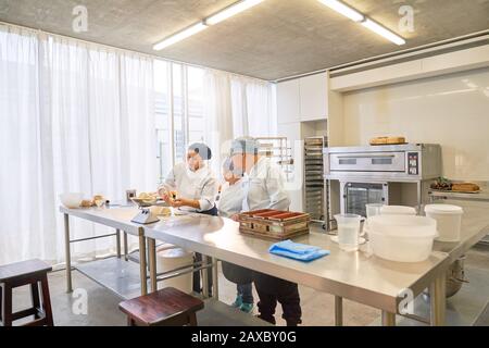
[[[154,61],[158,177],[184,161],[187,145],[204,136],[203,69]]]

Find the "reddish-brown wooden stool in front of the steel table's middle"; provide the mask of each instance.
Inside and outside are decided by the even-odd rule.
[[[197,326],[203,302],[173,287],[121,302],[129,326]]]

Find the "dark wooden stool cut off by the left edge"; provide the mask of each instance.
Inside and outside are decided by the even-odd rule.
[[[40,261],[29,260],[0,266],[0,325],[12,326],[18,319],[34,315],[34,321],[23,326],[53,326],[51,298],[49,297],[48,272],[52,268]],[[39,286],[41,285],[42,306],[39,299]],[[12,289],[30,285],[33,308],[13,313]]]

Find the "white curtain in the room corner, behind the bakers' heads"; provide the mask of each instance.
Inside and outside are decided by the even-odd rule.
[[[221,164],[234,138],[276,135],[274,98],[275,89],[271,83],[222,71],[205,71],[204,138],[214,151],[212,167],[215,173],[221,173]]]

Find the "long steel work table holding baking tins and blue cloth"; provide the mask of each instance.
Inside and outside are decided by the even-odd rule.
[[[158,239],[333,294],[337,324],[342,322],[342,298],[348,298],[381,310],[383,324],[393,325],[403,291],[411,289],[415,297],[427,287],[431,295],[431,323],[444,323],[444,282],[450,261],[444,252],[435,251],[419,263],[390,262],[361,251],[341,251],[329,236],[311,233],[294,240],[331,253],[303,263],[271,254],[268,248],[273,241],[240,234],[238,223],[231,220],[199,214],[168,217],[145,226],[145,235],[152,240],[148,250],[152,290],[156,288],[154,240]]]

